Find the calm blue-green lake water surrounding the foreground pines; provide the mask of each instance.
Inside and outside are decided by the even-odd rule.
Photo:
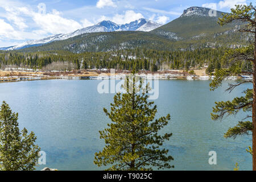
[[[110,108],[114,94],[99,94],[100,80],[46,80],[0,84],[0,101],[7,101],[19,113],[19,126],[34,131],[37,143],[47,154],[47,165],[59,170],[99,170],[93,164],[94,153],[102,150],[104,140],[99,130],[110,122],[103,107]],[[215,101],[241,96],[251,85],[243,85],[232,94],[228,86],[212,92],[210,81],[161,80],[158,115],[171,114],[162,131],[172,133],[164,143],[174,157],[172,170],[251,170],[251,136],[225,139],[229,127],[246,117],[241,113],[223,121],[212,121],[210,112]],[[217,165],[209,165],[209,151],[217,152]]]

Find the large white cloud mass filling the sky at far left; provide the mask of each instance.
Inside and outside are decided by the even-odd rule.
[[[82,28],[81,24],[72,19],[63,18],[61,13],[57,10],[52,10],[47,14],[41,14],[39,12],[33,11],[30,6],[16,5],[11,3],[1,3],[0,7],[5,10],[5,14],[1,14],[3,18],[9,21],[9,26],[1,27],[1,38],[6,39],[40,39],[49,34],[60,34],[75,31]],[[27,24],[29,22],[30,24]],[[1,24],[6,23],[4,20]],[[11,27],[10,27],[11,26]],[[5,28],[2,28],[5,27]],[[26,32],[27,28],[30,28],[30,32]],[[7,32],[9,28],[9,32]],[[10,29],[12,28],[12,29]],[[3,33],[6,32],[6,33]]]

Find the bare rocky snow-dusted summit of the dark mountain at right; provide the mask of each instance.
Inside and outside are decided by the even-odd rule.
[[[197,7],[192,6],[187,10],[184,10],[183,14],[180,17],[184,16],[209,16],[210,9],[207,7]]]

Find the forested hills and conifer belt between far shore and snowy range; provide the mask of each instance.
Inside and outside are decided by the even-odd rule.
[[[237,32],[242,24],[217,24],[222,12],[209,16],[209,9],[191,7],[183,15],[151,32],[121,31],[82,34],[67,40],[1,51],[0,64],[46,70],[115,68],[125,70],[193,69],[207,72],[227,67],[221,60],[226,49],[246,45],[253,39]],[[249,69],[250,63],[241,65]]]

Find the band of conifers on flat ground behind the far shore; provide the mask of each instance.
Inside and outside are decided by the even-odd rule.
[[[204,48],[194,51],[158,51],[127,49],[112,52],[45,51],[22,53],[0,52],[0,67],[71,71],[73,69],[114,68],[120,70],[158,71],[159,69],[195,69],[208,65],[208,71],[228,67],[221,59],[226,48]],[[241,65],[242,69],[250,63]]]

